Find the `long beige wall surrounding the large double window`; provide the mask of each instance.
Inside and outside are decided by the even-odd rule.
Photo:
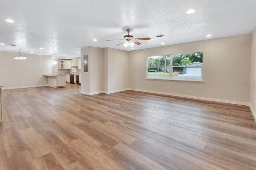
[[[249,103],[251,34],[129,52],[130,88]],[[148,56],[203,51],[204,82],[146,79]],[[167,89],[167,85],[170,86]]]

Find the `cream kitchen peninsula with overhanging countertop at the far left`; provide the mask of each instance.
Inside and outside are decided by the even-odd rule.
[[[58,88],[66,85],[66,75],[63,74],[43,74],[47,76],[48,86]]]

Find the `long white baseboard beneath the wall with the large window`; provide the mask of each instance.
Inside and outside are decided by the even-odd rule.
[[[164,92],[158,92],[158,91],[149,91],[149,90],[140,90],[140,89],[129,89],[133,91],[141,91],[141,92],[147,92],[147,93],[155,93],[160,95],[169,95],[169,96],[177,96],[177,97],[186,97],[190,99],[199,99],[199,100],[205,100],[205,101],[215,101],[215,102],[221,102],[221,103],[230,103],[230,104],[236,104],[236,105],[244,105],[249,106],[249,103],[239,102],[239,101],[229,101],[229,100],[222,100],[222,99],[212,99],[207,97],[197,97],[197,96],[189,96],[189,95],[179,95],[179,94],[173,94],[173,93],[164,93]]]

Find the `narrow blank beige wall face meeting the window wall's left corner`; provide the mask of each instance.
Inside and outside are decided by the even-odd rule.
[[[129,88],[129,52],[108,48],[108,93]]]

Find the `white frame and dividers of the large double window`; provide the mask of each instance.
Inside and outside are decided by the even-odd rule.
[[[188,53],[196,53],[196,52],[188,52]],[[203,52],[204,53],[204,52]],[[199,81],[203,82],[203,65],[190,65],[190,66],[172,66],[172,55],[174,54],[164,54],[164,55],[170,55],[170,66],[161,66],[161,67],[148,67],[148,59],[150,57],[157,57],[157,56],[162,56],[162,55],[155,55],[155,56],[148,56],[147,57],[147,67],[146,67],[146,79],[153,79],[153,80],[172,80],[172,81]],[[148,68],[163,68],[163,67],[169,67],[169,78],[151,78],[148,77]],[[201,67],[201,79],[175,79],[172,78],[172,70],[175,67]]]

